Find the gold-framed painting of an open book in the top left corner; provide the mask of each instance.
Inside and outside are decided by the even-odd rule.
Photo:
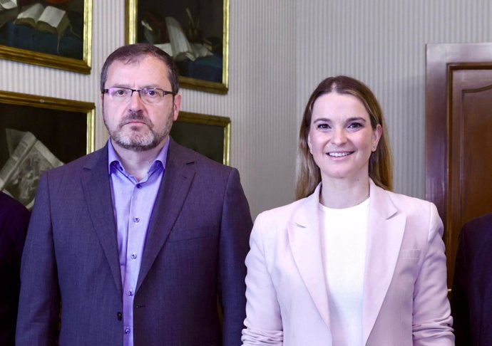
[[[91,73],[93,0],[1,0],[0,58]]]

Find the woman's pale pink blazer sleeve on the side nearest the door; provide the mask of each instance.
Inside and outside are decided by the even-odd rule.
[[[430,223],[424,258],[415,283],[414,345],[454,345],[453,318],[447,298],[444,226],[436,206],[430,205]]]

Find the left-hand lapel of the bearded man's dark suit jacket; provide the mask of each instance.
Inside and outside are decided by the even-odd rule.
[[[94,230],[108,259],[116,288],[123,292],[118,256],[118,239],[116,238],[116,221],[114,219],[109,182],[107,144],[103,149],[95,152],[83,167],[82,187]]]

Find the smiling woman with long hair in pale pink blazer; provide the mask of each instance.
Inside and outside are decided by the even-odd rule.
[[[299,131],[298,200],[252,230],[243,345],[453,345],[436,206],[391,188],[374,94],[323,80]]]

